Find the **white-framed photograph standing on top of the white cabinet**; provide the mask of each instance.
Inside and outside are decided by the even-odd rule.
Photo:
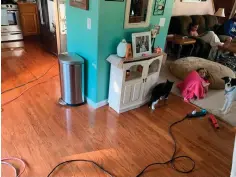
[[[151,32],[132,34],[133,57],[152,54]]]

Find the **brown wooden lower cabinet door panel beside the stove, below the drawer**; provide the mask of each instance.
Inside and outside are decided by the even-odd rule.
[[[38,34],[37,14],[23,13],[21,14],[21,25],[24,36]]]

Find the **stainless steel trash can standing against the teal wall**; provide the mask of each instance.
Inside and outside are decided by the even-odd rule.
[[[84,59],[76,53],[59,55],[62,105],[84,103]]]

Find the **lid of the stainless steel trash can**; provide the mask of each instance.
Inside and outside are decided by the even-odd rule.
[[[76,53],[60,54],[59,62],[63,64],[84,64],[84,59]]]

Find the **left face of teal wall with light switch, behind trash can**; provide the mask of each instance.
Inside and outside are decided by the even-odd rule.
[[[98,0],[90,0],[89,11],[72,7],[66,2],[67,48],[85,59],[85,96],[97,100],[98,62]],[[92,19],[91,30],[87,29],[87,18]]]

